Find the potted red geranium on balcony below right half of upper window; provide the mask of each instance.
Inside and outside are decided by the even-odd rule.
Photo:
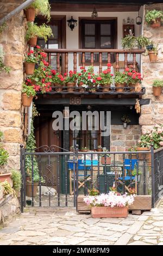
[[[100,73],[99,76],[96,77],[97,84],[99,84],[99,86],[102,86],[103,92],[109,92],[110,84],[112,83],[113,74],[110,74],[110,67],[111,64],[108,63],[108,69],[103,70],[102,73]]]

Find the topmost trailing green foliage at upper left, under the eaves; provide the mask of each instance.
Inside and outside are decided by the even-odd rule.
[[[36,10],[36,15],[42,14],[47,18],[47,21],[51,20],[51,5],[48,0],[36,0],[30,5]]]

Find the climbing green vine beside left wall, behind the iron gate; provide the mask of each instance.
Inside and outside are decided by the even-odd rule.
[[[31,132],[27,139],[26,150],[29,153],[34,153],[36,148],[36,141],[34,136],[33,120],[31,122]],[[34,182],[39,181],[39,168],[36,161],[36,156],[33,156],[33,170],[34,170]],[[32,155],[26,156],[26,175],[32,180]]]

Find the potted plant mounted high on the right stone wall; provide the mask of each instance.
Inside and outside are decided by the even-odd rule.
[[[163,12],[159,10],[151,10],[146,13],[146,22],[152,28],[158,28],[161,26],[163,20]]]

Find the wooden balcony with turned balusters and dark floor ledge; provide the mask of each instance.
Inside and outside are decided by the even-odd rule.
[[[145,52],[144,50],[118,50],[118,49],[45,49],[45,52],[48,54],[48,62],[57,72],[64,74],[68,73],[69,70],[79,71],[79,67],[86,65],[91,65],[95,67],[95,72],[101,73],[102,70],[106,69],[107,63],[110,63],[114,70],[123,71],[130,64],[133,65],[133,69],[139,69],[137,65],[136,56]],[[86,54],[90,54],[89,63],[86,59]],[[103,53],[105,54],[105,61],[103,60]],[[95,62],[95,54],[98,54],[98,62]],[[107,56],[107,58],[106,58]],[[115,62],[112,62],[112,59],[115,59]],[[55,62],[54,62],[55,60]],[[96,59],[97,60],[97,59]],[[123,62],[123,66],[122,66]],[[58,87],[57,87],[58,88]],[[140,104],[147,104],[149,100],[143,100],[142,95],[145,94],[146,88],[143,87],[140,92],[135,92],[134,88],[124,87],[122,92],[117,92],[115,86],[111,86],[109,92],[103,92],[102,87],[96,89],[86,88],[81,92],[82,87],[74,87],[73,92],[68,92],[65,86],[62,86],[60,92],[57,91],[57,88],[53,86],[52,92],[41,95],[38,93],[38,100],[36,102],[41,104],[64,104],[70,102],[71,99],[79,99],[85,104],[87,99],[90,99],[92,103],[103,104],[109,99],[110,103],[115,102],[115,104],[121,103],[134,105],[135,99],[140,99]],[[147,101],[147,102],[146,102]],[[117,102],[117,103],[116,103]]]

